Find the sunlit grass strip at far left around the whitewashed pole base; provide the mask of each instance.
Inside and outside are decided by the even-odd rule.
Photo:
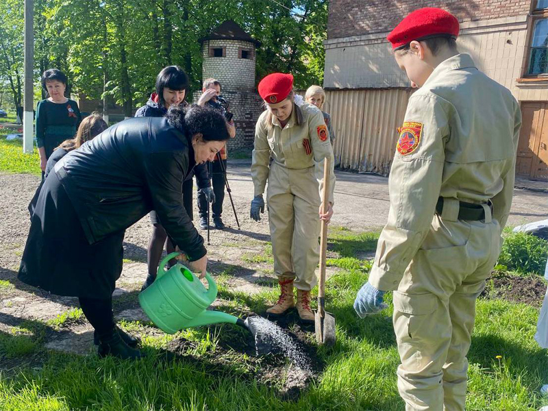
[[[8,129],[0,129],[0,171],[40,175],[40,158],[35,148],[30,154],[23,153],[21,140],[6,140]]]

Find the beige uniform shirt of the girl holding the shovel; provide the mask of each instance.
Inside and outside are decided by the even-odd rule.
[[[329,132],[323,121],[323,114],[316,106],[303,103],[301,124],[297,125],[296,105],[293,106],[290,119],[282,129],[279,121],[272,116],[268,127],[268,111],[259,117],[255,129],[255,145],[251,163],[251,177],[255,186],[255,195],[264,192],[269,176],[269,163],[273,161],[287,169],[308,169],[315,167],[314,173],[319,182],[320,195],[323,190],[323,159],[331,158],[329,179],[329,201],[334,203],[335,173],[334,157]]]

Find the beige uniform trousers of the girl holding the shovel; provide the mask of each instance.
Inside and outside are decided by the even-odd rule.
[[[311,290],[320,252],[320,195],[314,167],[288,169],[272,162],[266,201],[276,275],[280,280],[295,279],[299,290]]]

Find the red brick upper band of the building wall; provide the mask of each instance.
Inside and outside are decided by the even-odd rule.
[[[521,16],[530,12],[531,4],[531,0],[331,0],[327,38],[390,32],[417,8],[443,8],[465,22]]]

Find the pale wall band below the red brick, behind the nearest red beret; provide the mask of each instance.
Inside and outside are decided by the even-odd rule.
[[[326,88],[407,88],[410,82],[397,66],[386,34],[337,38],[325,42]],[[468,53],[478,69],[521,99],[524,87],[516,79],[526,69],[527,14],[461,23],[458,49]]]

